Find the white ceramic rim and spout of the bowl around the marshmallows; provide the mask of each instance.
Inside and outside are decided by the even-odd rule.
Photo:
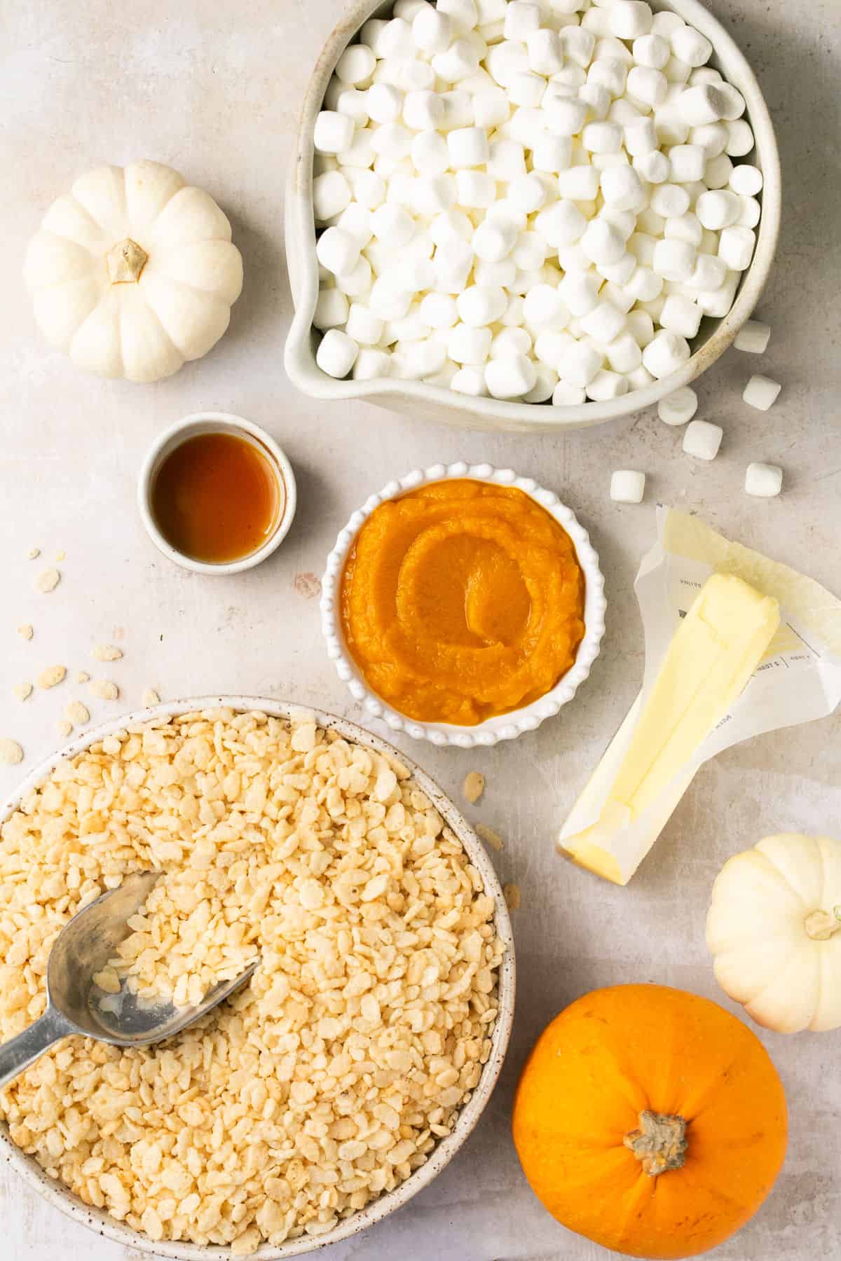
[[[720,69],[745,98],[748,106],[745,117],[757,140],[750,160],[762,169],[764,178],[757,248],[749,269],[744,272],[736,300],[724,319],[709,317],[704,319],[701,332],[693,342],[693,354],[680,371],[646,386],[644,390],[623,395],[622,398],[610,402],[586,402],[575,407],[472,398],[422,381],[400,381],[390,377],[376,381],[337,381],[327,372],[322,372],[315,362],[315,351],[322,334],[313,329],[318,298],[313,218],[313,127],[339,55],[357,37],[368,18],[373,14],[383,16],[392,9],[391,4],[383,4],[382,0],[354,0],[322,49],[313,71],[301,108],[296,153],[289,169],[285,232],[295,318],[286,339],[285,364],[289,378],[299,390],[313,398],[366,398],[393,411],[405,412],[407,416],[438,420],[464,429],[543,433],[584,429],[642,411],[680,386],[688,385],[726,351],[759,301],[777,248],[780,213],[777,140],[768,106],[750,66],[712,14],[699,0],[653,0],[653,6],[680,14],[712,44],[715,52],[710,64]]]

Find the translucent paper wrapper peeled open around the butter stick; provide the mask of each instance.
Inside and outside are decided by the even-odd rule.
[[[632,745],[641,710],[675,632],[712,574],[735,574],[779,603],[780,623],[759,667],[729,712],[635,818],[610,789]],[[627,884],[666,826],[699,767],[751,735],[826,718],[841,701],[841,600],[812,579],[740,543],[697,517],[657,509],[657,541],[635,581],[646,634],[643,687],[557,839],[583,866]],[[657,750],[652,750],[652,757]]]

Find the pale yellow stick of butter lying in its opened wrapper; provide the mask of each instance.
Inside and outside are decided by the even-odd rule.
[[[695,755],[744,690],[777,628],[779,605],[735,574],[712,574],[675,633],[647,699],[614,736],[572,808],[559,849],[627,884],[700,762]],[[606,791],[606,793],[605,793]],[[580,831],[576,821],[595,822]]]

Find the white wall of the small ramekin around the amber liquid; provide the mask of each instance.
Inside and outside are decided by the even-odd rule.
[[[256,551],[240,560],[224,561],[212,565],[203,560],[194,560],[171,546],[158,528],[158,522],[151,511],[151,492],[159,468],[166,456],[185,443],[188,438],[197,438],[199,434],[233,434],[253,443],[262,455],[272,464],[279,480],[284,488],[284,508],[269,538]],[[267,434],[252,420],[243,420],[242,416],[233,416],[228,411],[197,411],[190,416],[183,416],[174,425],[165,429],[163,434],[151,444],[137,477],[137,509],[146,528],[146,533],[154,542],[158,551],[163,552],[175,565],[182,569],[190,569],[194,574],[240,574],[243,569],[253,569],[280,546],[289,532],[289,527],[295,517],[298,506],[298,489],[295,474],[286,454],[280,449],[271,434]]]

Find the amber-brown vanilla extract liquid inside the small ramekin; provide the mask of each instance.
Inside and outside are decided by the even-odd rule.
[[[236,434],[198,434],[164,459],[151,511],[170,547],[224,565],[267,542],[285,498],[279,469],[255,443]]]

